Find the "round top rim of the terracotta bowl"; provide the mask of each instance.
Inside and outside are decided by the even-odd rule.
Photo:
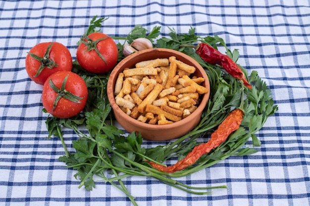
[[[130,54],[129,56],[125,57],[123,60],[121,60],[116,66],[115,68],[112,70],[109,78],[108,78],[108,82],[107,82],[107,96],[108,96],[108,100],[111,104],[111,101],[113,102],[113,104],[111,104],[112,106],[112,109],[113,109],[113,112],[114,113],[118,113],[120,114],[120,116],[122,118],[124,118],[124,120],[132,123],[132,124],[135,124],[139,127],[142,127],[142,128],[145,128],[145,129],[149,129],[149,130],[164,130],[164,129],[169,129],[169,128],[174,128],[174,127],[178,127],[178,126],[182,126],[185,124],[185,122],[188,122],[190,121],[190,119],[188,119],[188,117],[195,117],[197,115],[199,115],[199,118],[201,118],[201,115],[200,113],[203,112],[204,108],[206,107],[206,104],[207,104],[207,101],[209,99],[209,94],[210,94],[210,91],[208,91],[207,93],[203,94],[203,97],[201,99],[201,101],[199,102],[199,106],[197,107],[197,109],[192,113],[190,114],[188,117],[178,121],[178,122],[175,122],[175,123],[172,123],[172,124],[163,124],[163,125],[158,125],[158,124],[147,124],[147,123],[142,123],[130,116],[128,116],[126,113],[124,113],[120,108],[119,106],[116,104],[115,102],[115,96],[114,96],[114,86],[113,85],[113,81],[114,79],[117,78],[117,75],[118,75],[118,71],[121,69],[121,67],[127,62],[129,61],[130,59],[133,59],[135,58],[136,56],[138,55],[141,55],[143,53],[146,53],[146,52],[151,52],[151,51],[155,51],[155,50],[158,50],[159,52],[160,51],[164,51],[164,52],[171,52],[171,56],[173,56],[173,54],[176,54],[176,55],[179,55],[179,56],[182,56],[186,59],[189,59],[191,62],[196,62],[197,63],[197,66],[198,70],[200,70],[200,72],[202,71],[205,71],[203,69],[203,67],[196,61],[194,60],[192,57],[188,56],[187,54],[184,54],[180,51],[176,51],[176,50],[173,50],[173,49],[168,49],[168,48],[151,48],[151,49],[145,49],[145,50],[141,50],[141,51],[138,51],[138,52],[135,52],[133,54]],[[156,59],[156,57],[154,58]],[[194,64],[193,64],[194,65]],[[196,66],[195,66],[196,67]],[[205,85],[208,85],[209,86],[209,80],[208,80],[208,77],[207,77],[207,74],[204,74],[202,73],[202,75],[205,77],[205,81],[207,81],[205,83]],[[109,92],[109,90],[112,90],[112,92]],[[210,90],[210,89],[209,89]],[[115,104],[114,104],[115,103]],[[116,106],[115,106],[116,105]],[[115,106],[115,107],[114,107]],[[120,124],[120,123],[119,123]]]

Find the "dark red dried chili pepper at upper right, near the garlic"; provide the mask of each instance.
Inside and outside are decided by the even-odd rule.
[[[246,87],[250,89],[252,88],[251,84],[246,80],[246,77],[240,67],[229,56],[222,54],[207,43],[200,43],[196,49],[196,52],[206,62],[210,64],[218,64],[234,78],[237,80],[242,80]]]

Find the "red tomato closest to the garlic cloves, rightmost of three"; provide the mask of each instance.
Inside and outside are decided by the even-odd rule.
[[[106,38],[100,40],[102,38]],[[102,33],[92,33],[84,39],[76,51],[76,59],[87,71],[102,74],[111,71],[116,65],[118,50],[116,43],[107,35]],[[102,54],[103,59],[98,55],[96,49]]]

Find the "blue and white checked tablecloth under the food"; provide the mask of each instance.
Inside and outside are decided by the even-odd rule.
[[[40,42],[61,42],[75,58],[76,42],[95,15],[109,17],[103,32],[110,36],[126,36],[135,25],[161,26],[162,36],[168,27],[187,33],[191,26],[201,36],[218,35],[239,49],[241,65],[258,71],[279,107],[257,133],[258,153],[179,179],[228,189],[199,196],[128,177],[124,183],[139,206],[310,205],[309,0],[0,0],[1,206],[131,205],[104,182],[91,192],[78,189],[75,171],[57,160],[64,155],[60,140],[46,138],[42,86],[25,71],[27,51]],[[64,138],[73,151],[75,134],[65,130]]]

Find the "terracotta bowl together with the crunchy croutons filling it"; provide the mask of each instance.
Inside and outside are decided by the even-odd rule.
[[[107,82],[117,123],[155,141],[178,138],[196,127],[209,94],[204,68],[190,56],[166,48],[130,54]]]

